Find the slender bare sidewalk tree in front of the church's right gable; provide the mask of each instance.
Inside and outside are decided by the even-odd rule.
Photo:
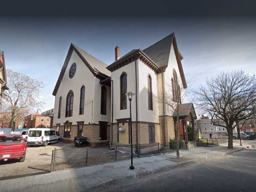
[[[186,79],[187,85],[189,87],[192,85],[192,80],[189,78]],[[179,105],[187,102],[187,93],[189,92],[188,86],[186,88],[183,87],[183,82],[180,76],[177,77],[176,72],[173,72],[173,77],[169,79],[168,82],[165,83],[166,90],[163,95],[161,95],[159,102],[164,102],[166,110],[169,113],[173,113],[176,111],[177,119],[176,119],[176,129],[175,129],[175,140],[176,140],[176,155],[177,159],[179,159]]]

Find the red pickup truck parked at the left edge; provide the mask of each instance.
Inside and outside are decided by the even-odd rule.
[[[27,143],[22,135],[0,135],[0,160],[19,159],[25,161]]]

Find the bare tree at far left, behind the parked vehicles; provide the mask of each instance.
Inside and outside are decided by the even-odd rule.
[[[17,117],[22,117],[35,108],[42,107],[43,102],[38,101],[39,94],[44,88],[41,81],[37,81],[10,69],[6,70],[9,90],[4,92],[5,99],[10,104],[9,127],[14,129]]]

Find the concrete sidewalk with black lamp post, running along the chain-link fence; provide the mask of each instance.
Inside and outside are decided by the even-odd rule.
[[[180,156],[193,158],[176,163],[170,161],[176,153],[134,159],[135,170],[130,170],[130,161],[120,161],[86,168],[52,172],[43,175],[0,181],[0,191],[85,191],[122,180],[204,162],[215,157],[230,154],[244,148],[227,149],[226,146],[197,147],[191,151],[180,151]]]

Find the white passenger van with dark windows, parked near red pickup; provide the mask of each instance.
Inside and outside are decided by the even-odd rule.
[[[28,145],[44,145],[48,143],[58,143],[59,134],[55,129],[50,128],[31,128],[28,129]]]

